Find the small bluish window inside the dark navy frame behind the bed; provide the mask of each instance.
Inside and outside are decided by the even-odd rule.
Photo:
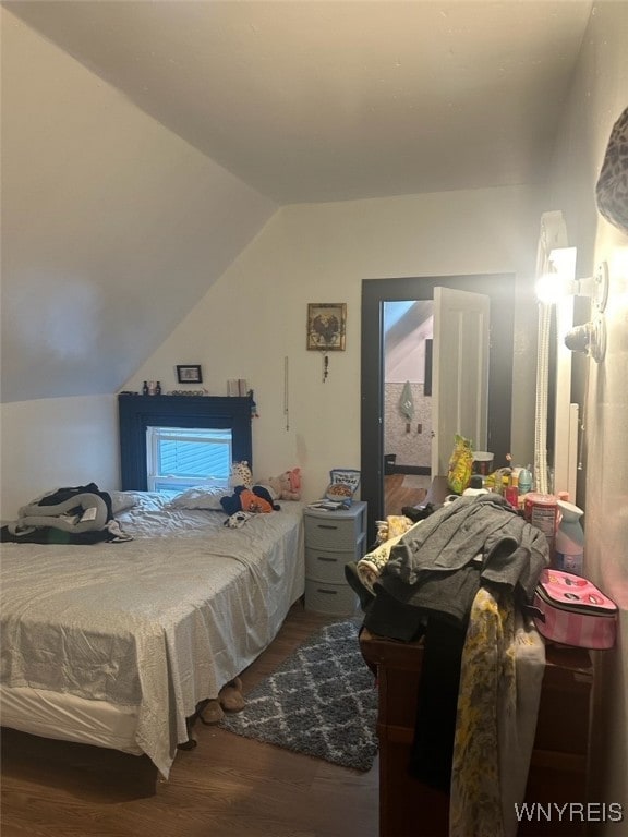
[[[208,484],[226,488],[231,459],[229,428],[146,428],[149,492],[183,492],[195,485]]]

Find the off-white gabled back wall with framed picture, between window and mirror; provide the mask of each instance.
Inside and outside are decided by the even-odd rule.
[[[125,389],[140,389],[145,378],[177,388],[178,363],[201,363],[212,395],[226,395],[227,378],[246,378],[259,412],[255,475],[299,465],[306,498],[319,497],[329,469],[360,466],[362,280],[514,271],[512,452],[528,461],[536,327],[529,278],[540,214],[534,191],[526,187],[283,207]],[[321,355],[305,349],[309,302],[348,304],[347,351],[330,353],[326,383]]]

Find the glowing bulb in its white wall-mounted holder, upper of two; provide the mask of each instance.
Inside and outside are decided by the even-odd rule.
[[[589,296],[602,313],[608,300],[608,264],[601,262],[593,276],[576,279],[576,247],[557,247],[550,253],[551,272],[536,282],[536,296],[547,305],[566,296]]]

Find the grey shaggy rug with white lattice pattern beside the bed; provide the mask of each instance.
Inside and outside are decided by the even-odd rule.
[[[358,623],[326,626],[220,721],[245,738],[365,772],[377,753],[377,691]]]

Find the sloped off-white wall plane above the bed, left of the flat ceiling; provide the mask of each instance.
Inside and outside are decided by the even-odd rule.
[[[111,393],[276,206],[0,21],[2,402]]]

